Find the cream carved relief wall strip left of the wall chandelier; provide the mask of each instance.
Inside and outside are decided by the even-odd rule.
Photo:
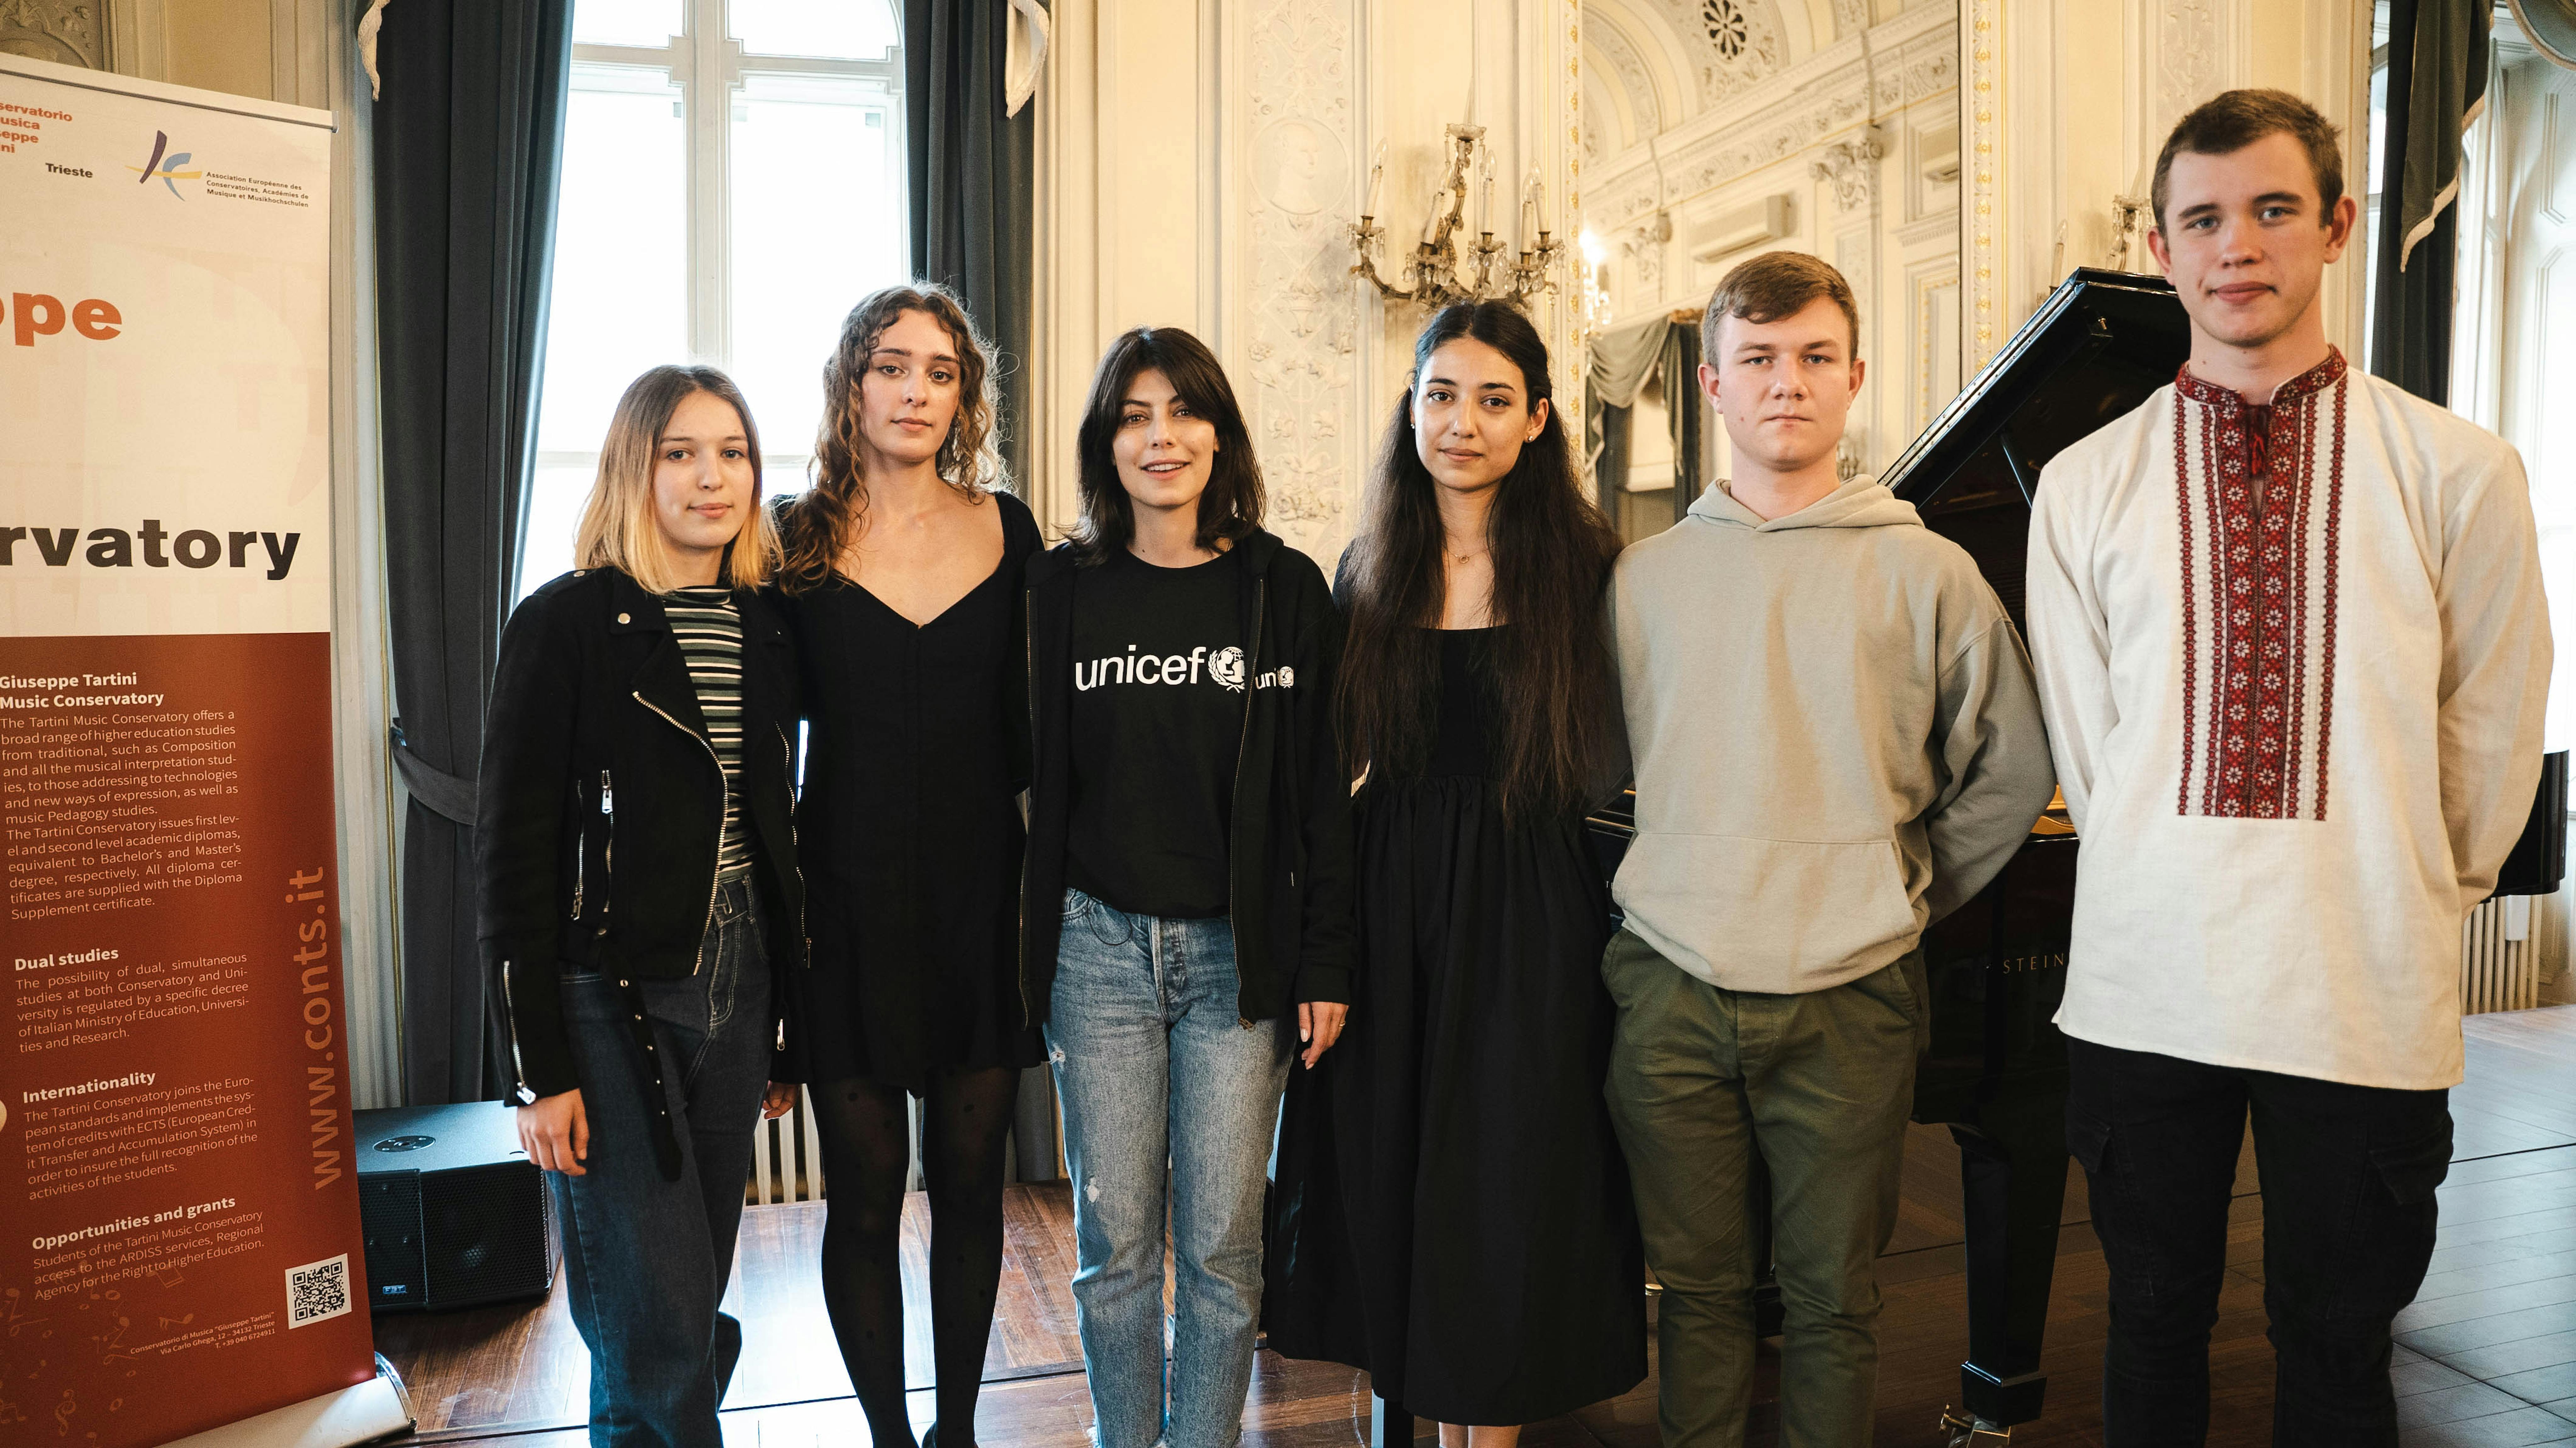
[[[1255,10],[1244,410],[1270,515],[1303,546],[1340,544],[1358,484],[1360,294],[1340,222],[1350,206],[1355,54],[1350,0],[1262,0]]]

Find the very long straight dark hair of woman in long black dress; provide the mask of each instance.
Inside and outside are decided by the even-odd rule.
[[[1602,585],[1618,533],[1584,497],[1564,410],[1548,384],[1548,345],[1504,301],[1440,309],[1414,343],[1414,379],[1396,399],[1370,479],[1360,536],[1345,557],[1350,642],[1334,711],[1352,768],[1422,768],[1440,698],[1440,484],[1414,448],[1414,389],[1443,345],[1473,338],[1520,368],[1530,407],[1548,402],[1538,438],[1494,484],[1486,546],[1494,559],[1492,634],[1502,709],[1497,765],[1504,817],[1582,804],[1610,739],[1610,649],[1600,631]]]

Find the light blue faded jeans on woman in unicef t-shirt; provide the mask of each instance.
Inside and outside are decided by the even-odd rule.
[[[1262,1185],[1296,1033],[1236,1015],[1234,928],[1064,891],[1046,1056],[1074,1172],[1074,1306],[1100,1448],[1234,1448],[1262,1314]],[[1172,1203],[1164,1412],[1162,1242]]]

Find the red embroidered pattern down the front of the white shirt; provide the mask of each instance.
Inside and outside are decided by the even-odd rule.
[[[2269,405],[2174,379],[2174,484],[2182,533],[2182,791],[2177,812],[2251,819],[2300,817],[2308,773],[2306,716],[2316,721],[2316,819],[2326,817],[2326,719],[2334,698],[2334,585],[2344,469],[2344,358],[2331,353],[2282,384]],[[2316,433],[2324,392],[2334,389],[2334,453],[2318,477]],[[2192,430],[2197,412],[2197,487]],[[2324,490],[2324,538],[2316,495]],[[2195,515],[2200,528],[2195,528]],[[2197,538],[2195,538],[2197,533]],[[2205,541],[2202,541],[2205,538]],[[2197,557],[2195,557],[2197,551]],[[2313,593],[2313,554],[2324,551],[2324,590]],[[2210,654],[2200,654],[2197,598],[2208,595]],[[2311,621],[2311,603],[2318,618]],[[2308,631],[2321,626],[2318,672],[2308,672]],[[2210,672],[2200,716],[2200,670]],[[2195,734],[2200,734],[2195,739]],[[2195,757],[2200,755],[2200,757]],[[2197,809],[2192,770],[2200,770]]]

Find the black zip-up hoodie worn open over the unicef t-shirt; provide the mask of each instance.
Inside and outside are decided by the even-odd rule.
[[[1226,915],[1236,1015],[1273,1020],[1298,1002],[1350,1002],[1350,770],[1332,729],[1342,613],[1324,572],[1283,538],[1236,538],[1236,621],[1249,647],[1244,737],[1234,760]],[[1074,554],[1028,559],[1028,868],[1020,873],[1020,995],[1046,1020],[1064,930],[1064,835],[1074,757]]]

